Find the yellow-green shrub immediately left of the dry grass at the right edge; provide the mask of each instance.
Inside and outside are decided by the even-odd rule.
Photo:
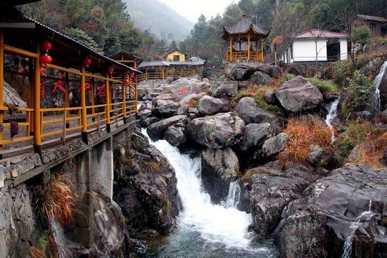
[[[372,125],[367,121],[355,121],[349,122],[345,131],[336,139],[334,150],[336,153],[336,159],[339,163],[343,163],[344,160],[350,154],[350,151],[367,136],[371,131]]]

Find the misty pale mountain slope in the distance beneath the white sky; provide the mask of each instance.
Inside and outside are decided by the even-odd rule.
[[[124,0],[127,11],[141,30],[149,30],[159,39],[182,41],[194,24],[158,0]]]

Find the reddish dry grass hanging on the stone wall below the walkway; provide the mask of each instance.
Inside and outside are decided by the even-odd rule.
[[[71,186],[69,174],[53,174],[42,193],[42,214],[55,218],[61,226],[71,225],[74,219],[76,194]]]

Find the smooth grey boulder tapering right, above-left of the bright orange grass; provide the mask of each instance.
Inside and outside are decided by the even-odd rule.
[[[236,112],[246,124],[272,123],[277,120],[277,115],[273,112],[265,111],[255,103],[254,98],[241,98],[236,105]]]

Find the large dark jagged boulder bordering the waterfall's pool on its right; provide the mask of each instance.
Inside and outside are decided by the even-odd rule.
[[[277,227],[284,207],[300,198],[305,188],[318,179],[303,166],[286,171],[258,167],[250,169],[246,175],[240,180],[241,204],[248,205],[254,231],[262,238],[269,236]]]

